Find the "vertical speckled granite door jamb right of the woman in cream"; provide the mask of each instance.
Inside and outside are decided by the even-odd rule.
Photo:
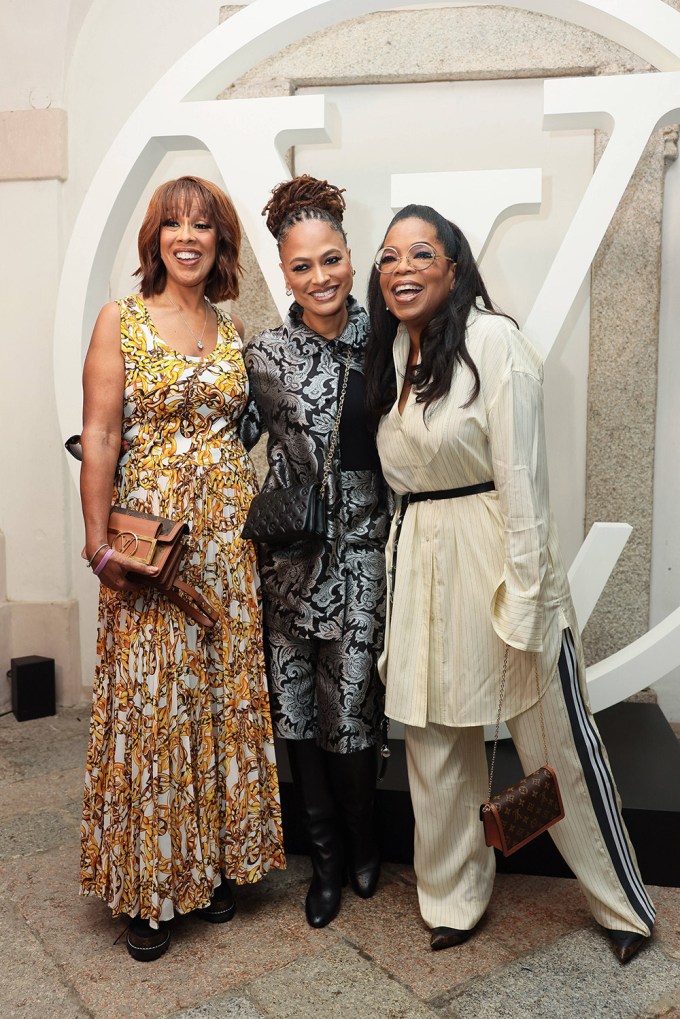
[[[676,155],[672,132],[651,136],[592,265],[586,529],[622,520],[633,533],[585,629],[590,661],[648,628],[661,226]]]

